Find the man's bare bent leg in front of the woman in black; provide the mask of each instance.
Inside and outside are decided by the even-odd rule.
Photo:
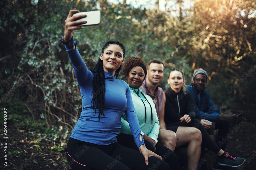
[[[188,144],[188,170],[197,168],[202,144],[201,131],[195,127],[179,126],[176,134],[177,138],[179,138],[179,140],[177,140],[176,147]]]

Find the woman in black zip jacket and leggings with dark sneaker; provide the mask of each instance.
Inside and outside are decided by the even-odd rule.
[[[244,158],[233,157],[223,151],[212,140],[200,121],[195,118],[194,99],[187,91],[183,71],[172,69],[167,80],[170,88],[165,93],[164,121],[166,129],[177,132],[179,126],[196,127],[202,133],[202,145],[217,154],[217,162],[220,165],[237,167],[243,164]],[[187,132],[189,134],[189,132]]]

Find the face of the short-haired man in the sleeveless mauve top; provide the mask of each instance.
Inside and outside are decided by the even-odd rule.
[[[164,77],[163,64],[151,63],[147,68],[147,83],[158,85]]]

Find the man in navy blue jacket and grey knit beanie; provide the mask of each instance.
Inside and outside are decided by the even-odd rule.
[[[221,149],[225,150],[227,139],[229,138],[227,137],[228,124],[237,121],[238,117],[234,114],[220,116],[219,109],[215,107],[214,102],[205,89],[207,79],[206,71],[198,69],[194,71],[192,84],[187,85],[187,89],[194,97],[196,119],[201,120],[201,124],[208,129],[210,135],[214,133],[215,129],[219,129],[218,145]],[[207,124],[206,120],[211,121],[212,124]]]

